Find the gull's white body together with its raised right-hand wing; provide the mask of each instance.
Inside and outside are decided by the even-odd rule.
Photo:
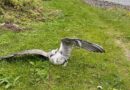
[[[80,39],[64,38],[61,41],[60,48],[56,50],[52,50],[49,53],[49,60],[53,64],[57,64],[57,65],[66,64],[71,55],[73,46],[78,46],[94,52],[100,52],[100,53],[105,52],[103,48],[97,44],[93,44]]]

